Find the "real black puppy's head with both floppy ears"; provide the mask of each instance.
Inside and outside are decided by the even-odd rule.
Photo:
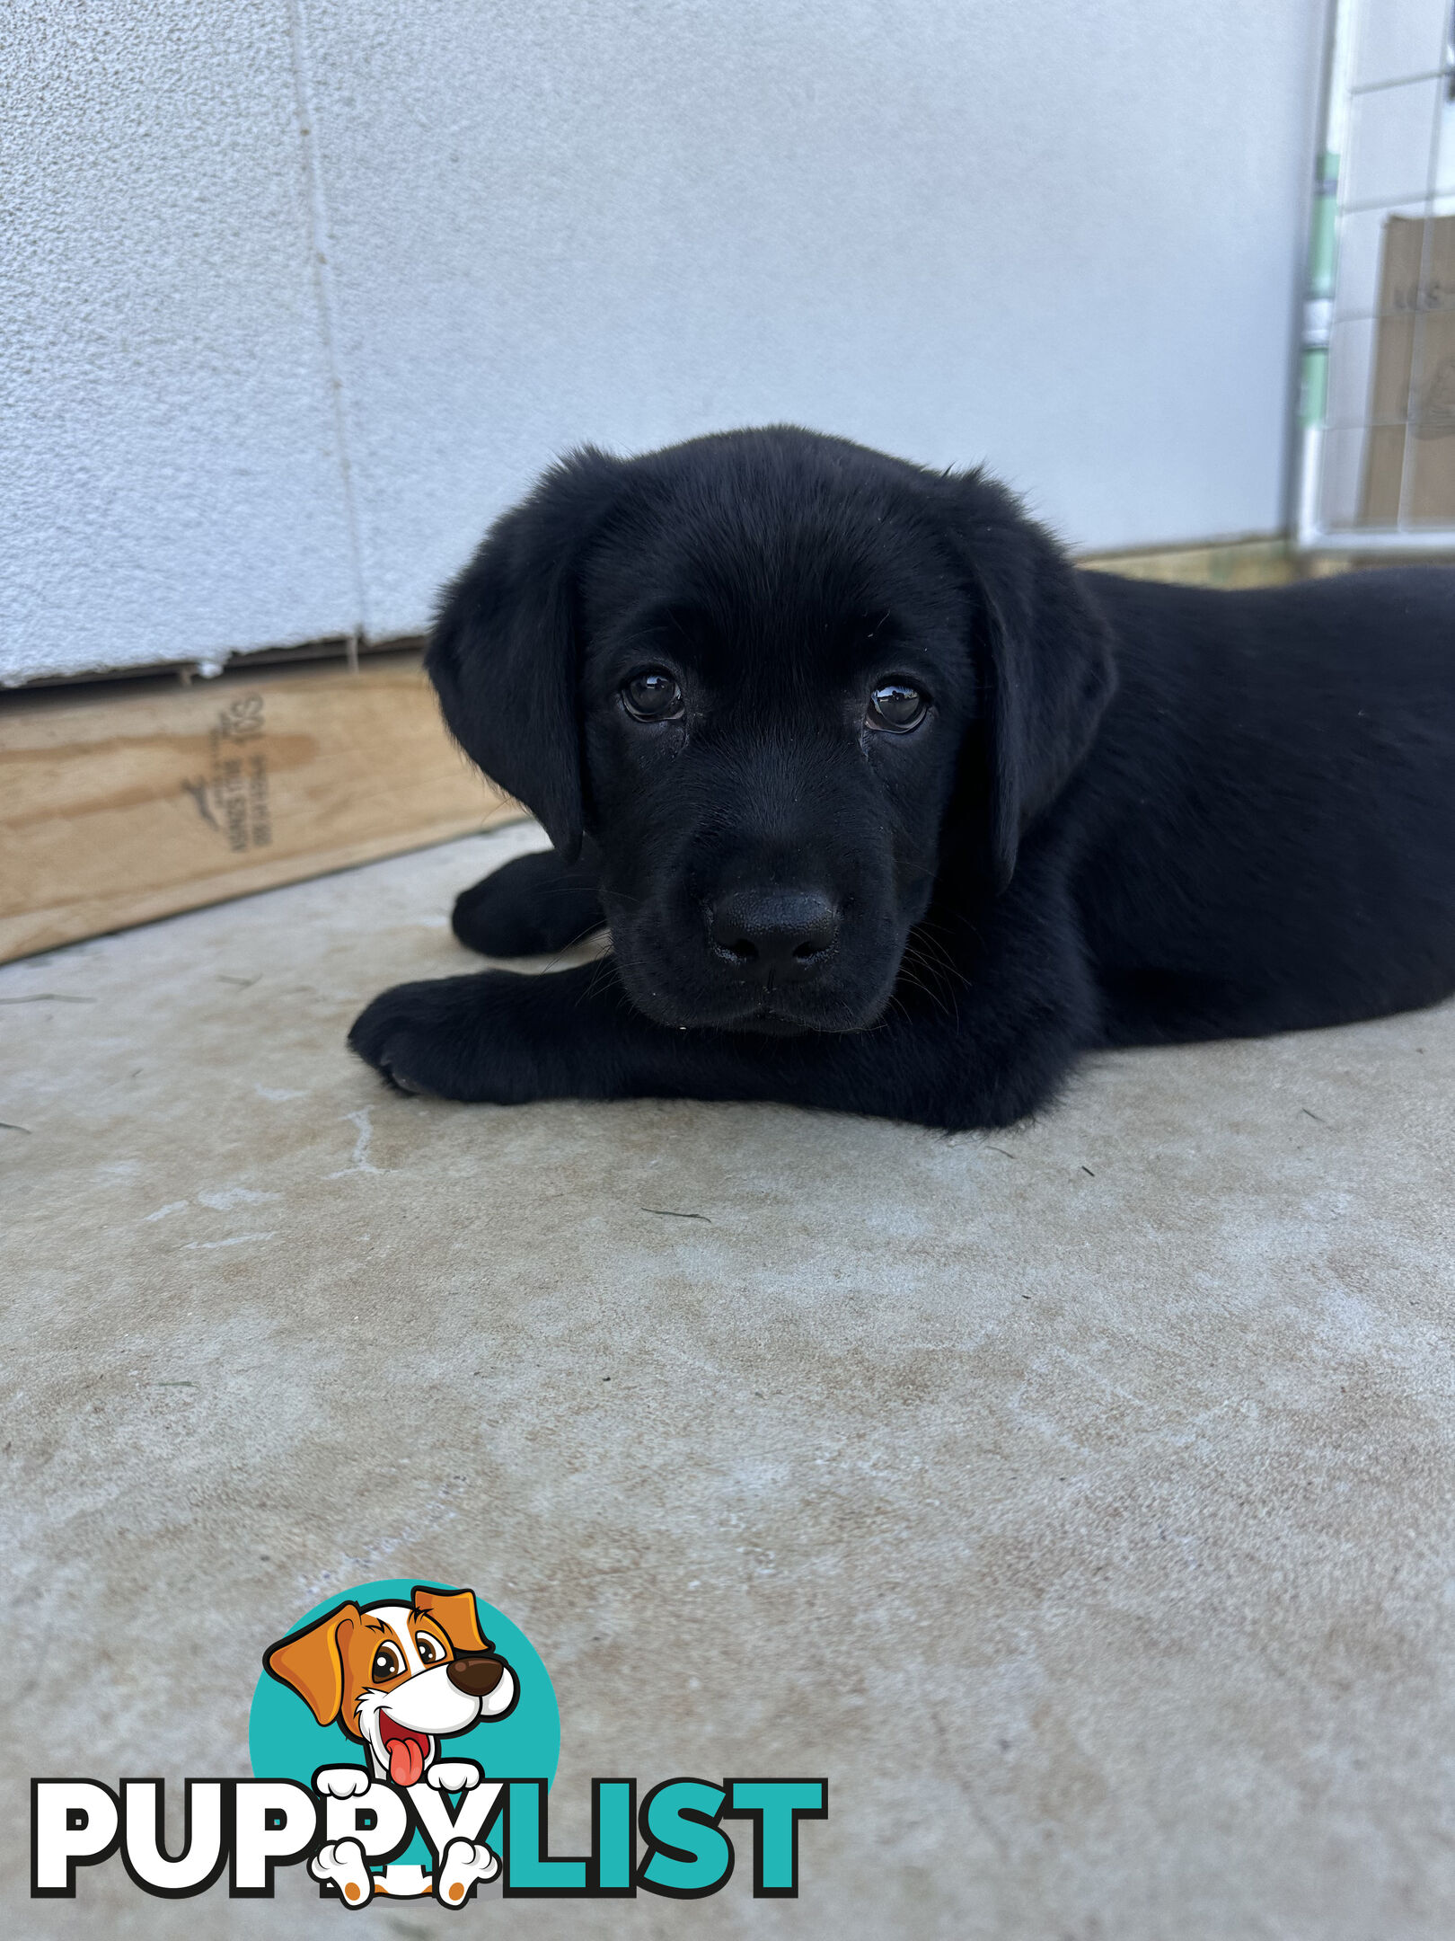
[[[1112,685],[1009,493],[788,427],[557,466],[446,592],[429,670],[555,846],[594,842],[636,1005],[760,1033],[871,1025],[951,804],[1003,887]]]

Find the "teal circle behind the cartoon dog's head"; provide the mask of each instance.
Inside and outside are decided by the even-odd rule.
[[[419,1582],[419,1578],[378,1578],[372,1584],[338,1590],[332,1597],[316,1603],[312,1611],[305,1611],[295,1625],[287,1627],[287,1632],[279,1630],[279,1638],[305,1630],[316,1619],[338,1611],[341,1603],[409,1603],[409,1594]],[[518,1625],[510,1623],[504,1611],[475,1597],[475,1613],[481,1632],[520,1681],[520,1698],[514,1712],[499,1724],[481,1720],[469,1731],[456,1731],[448,1739],[440,1739],[438,1757],[473,1759],[487,1780],[497,1776],[541,1778],[551,1786],[561,1757],[561,1712],[551,1677],[535,1646]],[[320,1766],[369,1764],[357,1739],[351,1739],[341,1726],[320,1726],[303,1698],[268,1671],[258,1677],[258,1689],[252,1694],[248,1759],[254,1778],[299,1780],[303,1786],[312,1784]]]

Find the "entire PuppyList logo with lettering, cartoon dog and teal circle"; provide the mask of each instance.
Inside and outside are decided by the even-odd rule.
[[[326,1900],[433,1896],[696,1900],[735,1865],[753,1892],[797,1896],[799,1821],[828,1817],[826,1780],[592,1780],[592,1850],[549,1852],[561,1751],[555,1691],[530,1638],[471,1590],[392,1578],[307,1611],[262,1658],[250,1780],[186,1780],[182,1842],[163,1840],[163,1782],[31,1780],[31,1894],[76,1896],[80,1867],[120,1852],[147,1894],[270,1898],[305,1865]]]

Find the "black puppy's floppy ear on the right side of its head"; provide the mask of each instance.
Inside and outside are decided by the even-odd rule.
[[[1020,837],[1061,794],[1116,691],[1112,633],[1055,540],[993,479],[945,481],[976,609],[997,889]]]

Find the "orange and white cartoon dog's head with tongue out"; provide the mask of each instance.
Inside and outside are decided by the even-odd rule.
[[[481,1634],[473,1592],[417,1584],[409,1603],[341,1603],[264,1652],[320,1726],[363,1741],[380,1772],[413,1786],[438,1741],[504,1718],[518,1687]]]

